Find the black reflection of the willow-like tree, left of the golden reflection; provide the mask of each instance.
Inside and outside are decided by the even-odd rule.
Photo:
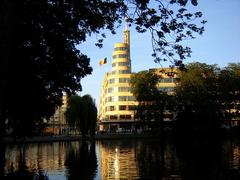
[[[68,149],[65,161],[68,179],[94,179],[97,172],[95,142],[82,141],[78,148]]]

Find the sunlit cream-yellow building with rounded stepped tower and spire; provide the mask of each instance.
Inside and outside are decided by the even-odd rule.
[[[175,69],[161,68],[149,71],[161,75],[159,90],[173,93]],[[131,93],[131,75],[130,32],[126,28],[124,42],[114,45],[112,71],[107,72],[103,79],[98,114],[99,131],[120,132],[135,128],[137,119],[134,116],[134,109],[138,102]]]

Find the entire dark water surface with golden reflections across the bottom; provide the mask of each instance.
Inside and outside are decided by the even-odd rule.
[[[1,145],[0,179],[240,179],[240,141],[102,140]]]

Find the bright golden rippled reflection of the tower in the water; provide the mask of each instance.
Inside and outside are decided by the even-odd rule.
[[[139,171],[134,148],[119,148],[99,143],[99,166],[102,180],[137,179]]]

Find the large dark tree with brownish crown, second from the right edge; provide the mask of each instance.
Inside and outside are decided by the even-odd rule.
[[[198,62],[186,68],[179,73],[176,87],[177,129],[183,134],[214,134],[223,118],[217,78],[220,69]]]

